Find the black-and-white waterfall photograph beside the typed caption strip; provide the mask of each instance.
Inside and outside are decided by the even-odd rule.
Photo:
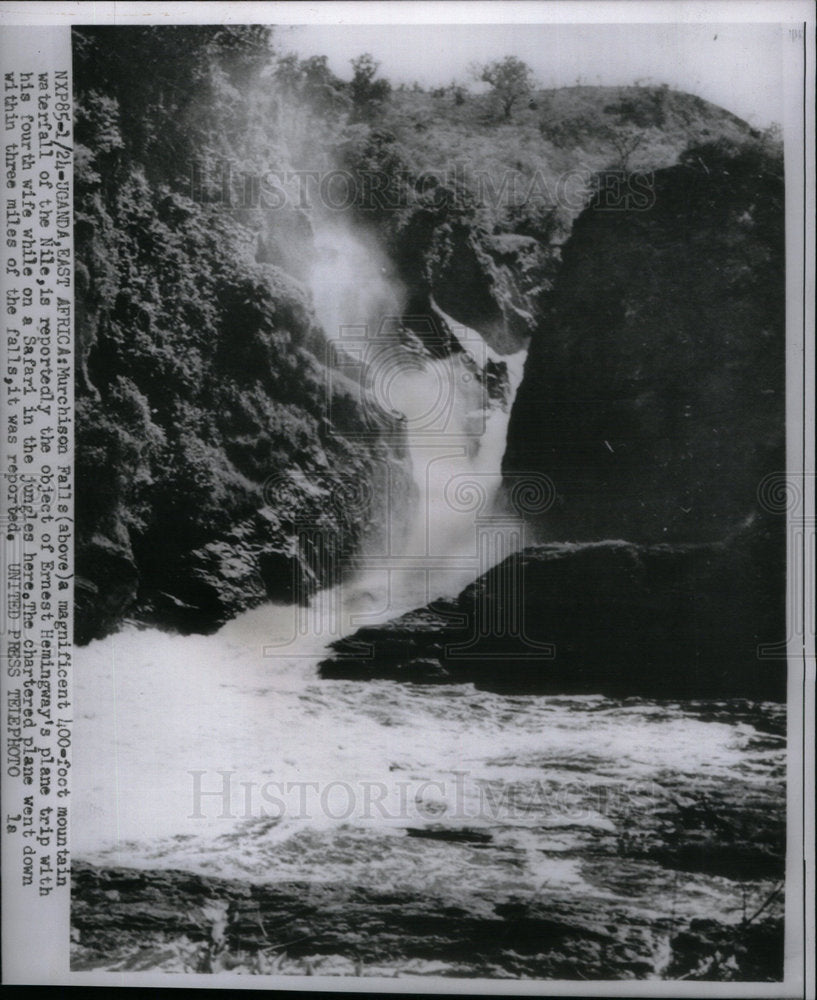
[[[70,974],[803,995],[807,29],[84,6]]]

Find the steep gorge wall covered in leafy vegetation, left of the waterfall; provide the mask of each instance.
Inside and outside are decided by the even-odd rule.
[[[292,155],[265,30],[75,34],[79,643],[303,601],[411,495],[399,421],[330,363],[309,220],[232,200],[236,157]]]

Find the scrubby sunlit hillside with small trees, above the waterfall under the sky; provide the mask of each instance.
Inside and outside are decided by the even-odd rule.
[[[501,353],[536,333],[559,247],[600,173],[649,188],[652,171],[691,146],[750,138],[729,112],[661,87],[539,91],[511,120],[491,94],[403,90],[367,124],[340,147],[341,163],[388,179],[391,211],[364,183],[355,207],[384,232],[411,292],[407,312],[428,313],[433,296]]]

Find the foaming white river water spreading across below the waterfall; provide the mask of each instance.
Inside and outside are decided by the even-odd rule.
[[[758,748],[754,725],[694,705],[318,680],[303,646],[264,655],[285,610],[80,651],[76,854],[436,890],[467,863],[474,888],[578,891],[583,849],[616,843],[635,814],[702,782],[763,796],[781,779],[782,740]],[[491,849],[424,829],[483,831]],[[690,913],[701,892],[713,912],[733,905],[723,880],[694,881]],[[675,891],[668,875],[654,891]]]

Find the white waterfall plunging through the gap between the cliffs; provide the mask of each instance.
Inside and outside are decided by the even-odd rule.
[[[419,341],[400,335],[405,292],[387,259],[362,231],[339,225],[318,229],[310,288],[328,338],[343,342],[360,331],[368,355],[364,379],[377,404],[400,414],[405,428],[416,502],[392,498],[388,511],[403,539],[390,558],[368,559],[343,585],[340,631],[382,621],[453,597],[490,568],[477,544],[477,518],[495,509],[511,405],[525,352],[500,358],[477,331],[434,309],[463,348],[434,358]],[[490,377],[504,380],[491,388]],[[482,563],[480,559],[482,558]],[[333,614],[338,595],[313,602]]]

